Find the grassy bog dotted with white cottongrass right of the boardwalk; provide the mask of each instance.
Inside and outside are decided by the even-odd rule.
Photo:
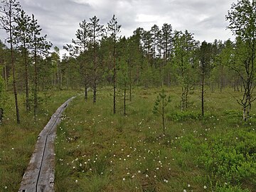
[[[159,91],[134,90],[127,117],[121,100],[112,114],[110,90],[95,105],[76,98],[58,127],[55,191],[254,191],[255,111],[244,123],[228,90],[208,92],[202,120],[199,90],[181,113],[179,90],[167,89],[163,137],[152,114]]]

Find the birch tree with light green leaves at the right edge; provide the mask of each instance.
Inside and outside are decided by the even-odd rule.
[[[256,1],[239,0],[236,4],[232,4],[226,19],[229,21],[228,28],[237,37],[237,48],[240,50],[238,65],[233,65],[233,70],[238,73],[242,81],[243,95],[237,101],[242,106],[243,120],[247,121],[252,102],[256,99],[252,95],[256,73]]]

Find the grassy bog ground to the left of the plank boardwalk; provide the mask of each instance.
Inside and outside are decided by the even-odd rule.
[[[47,124],[50,116],[69,97],[76,92],[45,92],[41,95],[40,112],[36,124],[33,112],[27,113],[23,95],[19,97],[21,124],[16,124],[15,108],[7,105],[4,119],[0,125],[0,191],[18,191],[21,179],[33,153],[38,134]],[[47,100],[43,98],[48,98]],[[13,95],[9,93],[7,103],[14,104]]]

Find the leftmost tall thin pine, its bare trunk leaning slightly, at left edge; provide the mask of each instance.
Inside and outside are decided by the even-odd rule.
[[[0,6],[0,25],[6,33],[8,34],[7,41],[10,43],[11,49],[11,68],[13,76],[14,85],[14,99],[16,107],[16,120],[19,124],[21,122],[20,115],[18,111],[18,94],[16,90],[16,70],[15,70],[15,58],[14,58],[14,31],[16,23],[16,18],[21,12],[21,6],[16,0],[4,0],[2,1],[3,6]]]

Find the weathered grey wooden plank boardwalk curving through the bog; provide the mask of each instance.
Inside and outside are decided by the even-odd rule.
[[[18,192],[54,192],[56,127],[60,123],[61,113],[73,98],[58,107],[46,127],[38,135],[35,151],[33,151],[31,161],[23,175]]]

